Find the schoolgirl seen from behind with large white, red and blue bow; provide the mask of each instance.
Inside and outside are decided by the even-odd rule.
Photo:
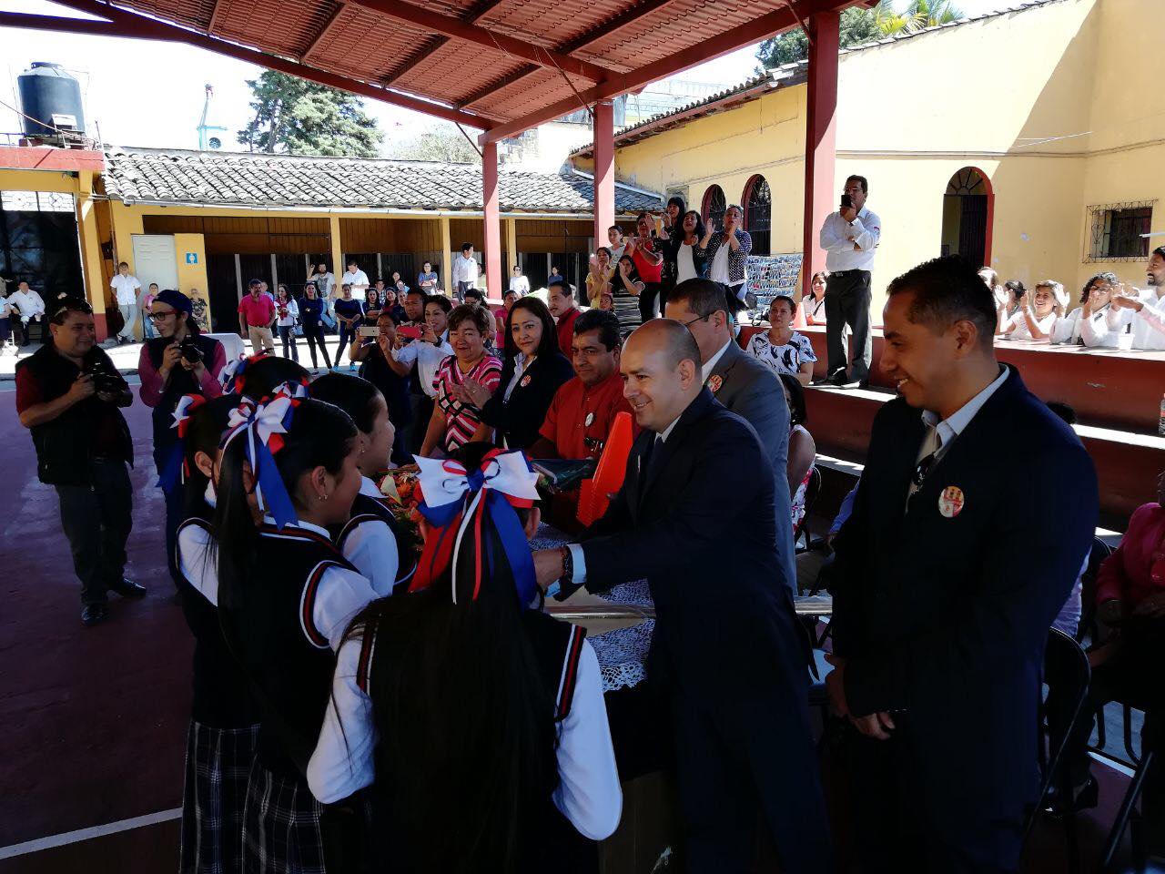
[[[375,871],[593,871],[622,794],[594,650],[537,609],[537,478],[485,443],[418,461],[417,575],[348,630],[309,784],[372,787]]]

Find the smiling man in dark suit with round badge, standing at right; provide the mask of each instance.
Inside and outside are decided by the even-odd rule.
[[[930,261],[888,295],[882,367],[902,396],[833,544],[826,685],[856,728],[857,855],[869,872],[1014,872],[1044,646],[1092,543],[1096,475],[995,360],[969,263]]]

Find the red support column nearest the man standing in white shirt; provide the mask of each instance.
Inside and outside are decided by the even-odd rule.
[[[813,274],[825,269],[825,251],[818,234],[825,217],[836,207],[833,190],[838,141],[838,24],[836,12],[821,12],[809,20],[809,96],[805,121],[805,213],[802,295],[809,297]],[[804,308],[798,308],[803,316]]]

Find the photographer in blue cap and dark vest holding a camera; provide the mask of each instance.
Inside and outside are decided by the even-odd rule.
[[[190,298],[172,288],[154,298],[149,318],[158,336],[142,345],[137,375],[142,403],[154,410],[154,465],[165,494],[165,555],[177,579],[175,544],[178,523],[185,517],[182,488],[182,444],[174,413],[183,395],[218,397],[223,394],[219,373],[226,350],[212,337],[203,337],[195,322]]]

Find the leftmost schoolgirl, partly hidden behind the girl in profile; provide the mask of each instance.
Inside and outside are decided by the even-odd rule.
[[[246,402],[245,402],[246,403]],[[195,635],[193,696],[182,795],[182,874],[242,869],[242,811],[259,714],[219,628],[211,520],[219,442],[240,399],[188,395],[177,406],[186,519],[177,529],[178,593]]]

